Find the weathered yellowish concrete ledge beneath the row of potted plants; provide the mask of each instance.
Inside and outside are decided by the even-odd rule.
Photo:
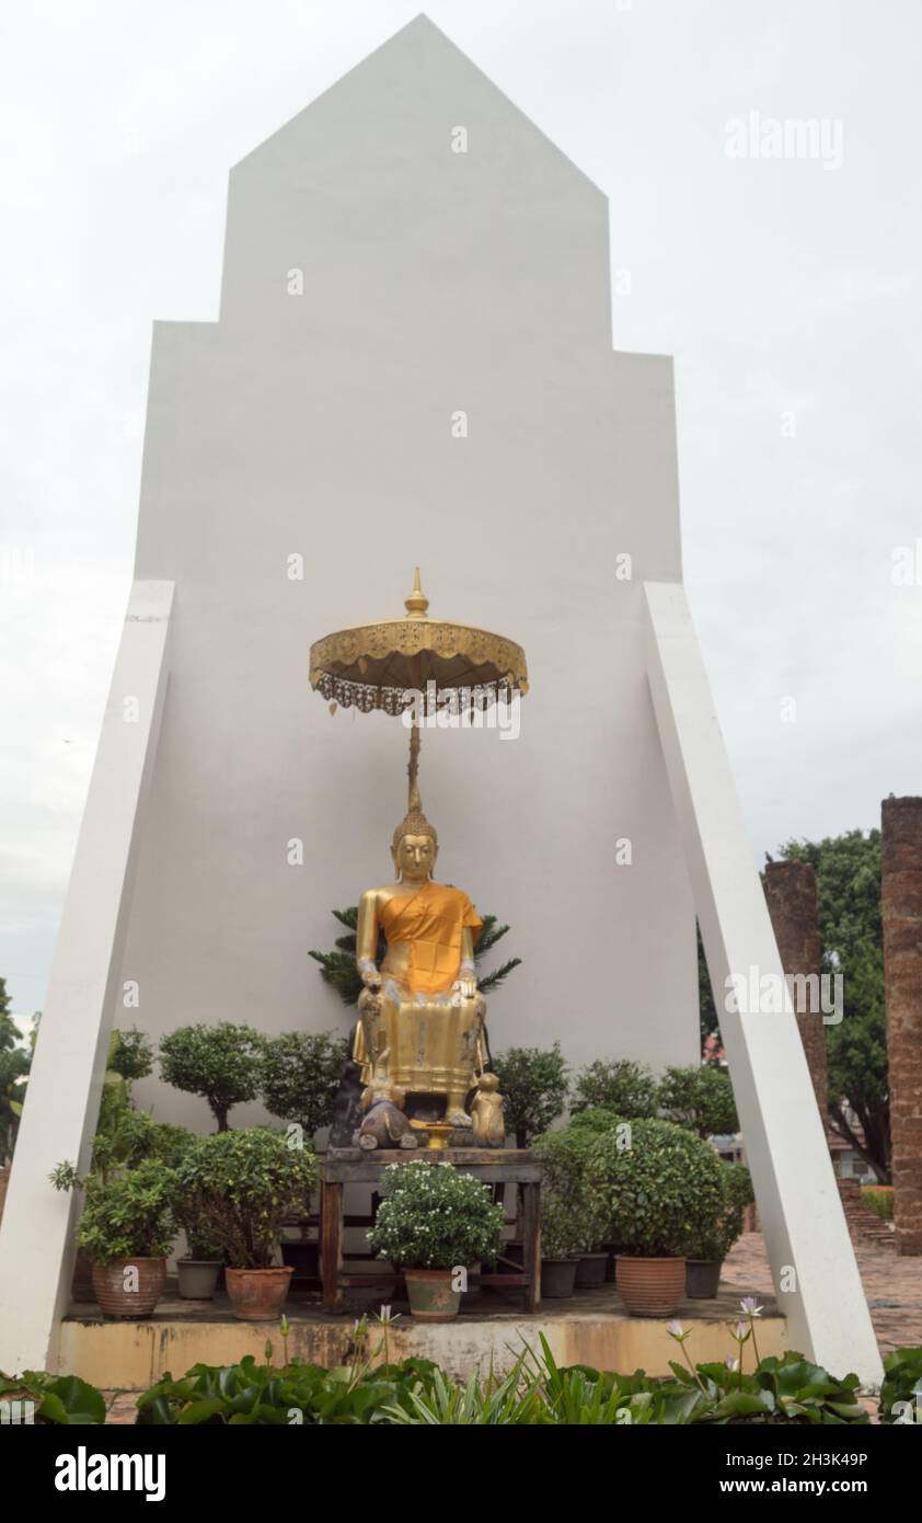
[[[686,1348],[694,1362],[724,1360],[736,1352],[729,1327],[738,1320],[739,1299],[746,1293],[724,1287],[717,1301],[688,1301],[680,1307],[682,1325],[692,1330]],[[456,1322],[437,1325],[414,1322],[397,1304],[394,1310],[402,1316],[389,1333],[391,1359],[432,1359],[450,1375],[467,1378],[476,1365],[485,1371],[490,1359],[508,1365],[523,1340],[537,1348],[539,1333],[561,1365],[668,1375],[669,1359],[679,1355],[666,1322],[627,1316],[613,1285],[580,1292],[572,1301],[545,1302],[534,1316],[508,1304],[498,1305],[498,1299],[478,1298]],[[759,1319],[759,1352],[781,1355],[788,1346],[785,1319],[770,1298],[761,1299],[765,1310]],[[327,1366],[345,1360],[354,1313],[333,1316],[320,1310],[316,1298],[295,1298],[286,1316],[291,1359]],[[237,1322],[224,1296],[204,1308],[166,1298],[154,1317],[138,1322],[116,1322],[103,1319],[96,1307],[75,1307],[61,1327],[58,1368],[94,1386],[145,1390],[167,1369],[178,1377],[195,1363],[231,1365],[245,1354],[262,1362],[266,1339],[274,1345],[274,1360],[281,1362],[278,1323]],[[747,1359],[752,1359],[752,1343]]]

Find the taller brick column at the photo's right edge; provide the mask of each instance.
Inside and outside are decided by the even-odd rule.
[[[922,798],[885,798],[881,900],[898,1253],[922,1253]]]

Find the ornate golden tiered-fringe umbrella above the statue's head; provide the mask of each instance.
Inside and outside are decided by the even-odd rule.
[[[403,606],[403,618],[358,624],[318,640],[310,647],[310,687],[330,705],[354,707],[364,714],[374,708],[402,714],[415,694],[423,701],[447,699],[463,713],[528,691],[525,652],[514,640],[429,618],[418,567]],[[409,745],[412,790],[420,748],[415,716]]]

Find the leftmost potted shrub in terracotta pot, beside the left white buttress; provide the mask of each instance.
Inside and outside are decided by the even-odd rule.
[[[79,1179],[72,1164],[59,1164],[52,1183],[85,1193],[78,1243],[93,1264],[93,1290],[105,1316],[149,1317],[163,1295],[176,1234],[172,1170],[145,1159],[114,1177]]]

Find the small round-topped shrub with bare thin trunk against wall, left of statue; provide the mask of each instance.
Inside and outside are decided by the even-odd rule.
[[[253,1027],[180,1027],[160,1039],[160,1075],[173,1089],[201,1095],[219,1132],[233,1106],[259,1097],[265,1037]]]

